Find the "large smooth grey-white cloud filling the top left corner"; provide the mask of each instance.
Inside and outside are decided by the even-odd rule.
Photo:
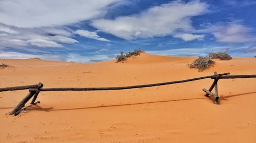
[[[0,21],[16,27],[68,25],[105,14],[119,0],[0,1]]]

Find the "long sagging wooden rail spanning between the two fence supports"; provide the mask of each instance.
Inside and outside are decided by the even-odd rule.
[[[227,75],[230,73],[223,73],[219,75]],[[125,89],[136,89],[136,88],[146,88],[146,87],[155,87],[159,85],[167,85],[167,84],[174,84],[174,83],[182,83],[194,80],[200,80],[205,78],[211,78],[211,76],[204,76],[198,78],[191,78],[186,80],[178,80],[178,81],[171,81],[171,82],[163,82],[163,83],[155,83],[155,84],[144,84],[144,85],[134,85],[129,87],[109,87],[109,88],[43,88],[40,91],[106,91],[106,90],[125,90]],[[29,91],[35,91],[35,89],[29,89]]]

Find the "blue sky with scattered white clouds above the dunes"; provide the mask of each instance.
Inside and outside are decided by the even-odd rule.
[[[256,1],[0,1],[0,59],[96,62],[120,51],[256,56]]]

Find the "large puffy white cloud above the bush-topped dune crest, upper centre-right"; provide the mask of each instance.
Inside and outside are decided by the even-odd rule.
[[[127,40],[168,36],[177,31],[191,31],[193,26],[190,18],[205,13],[207,8],[207,4],[199,1],[174,1],[136,15],[95,19],[91,25],[100,31]]]

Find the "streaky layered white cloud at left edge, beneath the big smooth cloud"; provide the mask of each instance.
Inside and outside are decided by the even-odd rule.
[[[3,47],[62,47],[60,43],[78,43],[69,38],[72,35],[72,30],[65,26],[19,28],[0,23],[0,46]]]

